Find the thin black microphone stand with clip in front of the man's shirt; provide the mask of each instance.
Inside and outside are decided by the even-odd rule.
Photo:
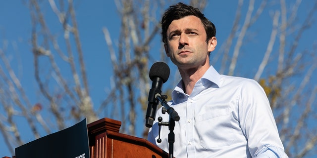
[[[174,142],[175,142],[175,134],[174,134],[174,127],[175,127],[175,121],[179,121],[179,116],[177,114],[177,112],[171,108],[165,101],[166,96],[163,95],[163,97],[161,98],[161,95],[159,93],[155,94],[155,98],[157,98],[159,100],[159,102],[162,104],[163,108],[162,108],[162,113],[165,114],[165,112],[167,112],[167,114],[169,114],[169,122],[162,122],[162,118],[159,117],[159,137],[160,137],[160,126],[164,125],[167,126],[168,125],[168,129],[169,129],[169,134],[168,134],[168,150],[169,150],[169,158],[173,158],[173,154],[174,154]],[[161,142],[161,139],[159,138],[158,143]]]

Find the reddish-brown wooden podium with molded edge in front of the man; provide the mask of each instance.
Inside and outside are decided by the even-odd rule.
[[[168,158],[146,139],[119,133],[118,120],[102,118],[87,126],[90,158]]]

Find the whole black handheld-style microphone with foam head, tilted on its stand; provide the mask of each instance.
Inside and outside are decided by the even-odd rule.
[[[152,88],[149,92],[148,98],[148,109],[146,115],[145,126],[151,128],[153,126],[153,122],[155,120],[155,116],[158,109],[159,100],[156,99],[156,94],[161,94],[161,88],[163,83],[165,83],[169,77],[169,67],[167,64],[163,62],[156,62],[152,65],[149,77],[153,81]]]

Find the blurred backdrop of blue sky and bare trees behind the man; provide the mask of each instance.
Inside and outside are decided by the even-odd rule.
[[[317,1],[180,1],[216,26],[211,65],[263,86],[288,156],[315,158]],[[84,118],[146,138],[150,67],[169,65],[168,96],[180,80],[160,37],[177,2],[0,0],[0,157]]]

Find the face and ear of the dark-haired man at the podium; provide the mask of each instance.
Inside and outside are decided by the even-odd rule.
[[[174,20],[168,26],[165,52],[180,69],[209,67],[208,52],[214,50],[216,39],[207,39],[201,20],[196,16],[186,16]]]

